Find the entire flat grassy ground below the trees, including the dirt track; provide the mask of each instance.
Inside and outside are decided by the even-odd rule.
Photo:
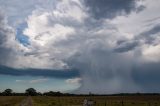
[[[82,106],[84,99],[94,106],[160,106],[160,96],[0,96],[0,106]]]

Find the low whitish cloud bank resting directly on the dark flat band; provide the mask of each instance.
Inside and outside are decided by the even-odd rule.
[[[40,69],[51,69],[54,67],[54,69],[62,69],[66,66],[65,63],[63,63],[60,60],[54,60],[53,62],[50,62],[50,58],[44,56],[45,54],[42,54],[41,56],[35,57],[34,55],[24,56],[24,55],[18,55],[14,57],[15,62],[12,62],[10,66],[14,68],[40,68]]]

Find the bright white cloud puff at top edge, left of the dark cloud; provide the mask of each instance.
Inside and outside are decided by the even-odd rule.
[[[57,4],[56,10],[53,11],[52,15],[55,18],[70,18],[83,22],[83,19],[87,17],[86,13],[83,12],[83,7],[80,0],[62,0],[61,3]]]

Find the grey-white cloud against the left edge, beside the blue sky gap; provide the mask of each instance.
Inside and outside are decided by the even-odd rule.
[[[17,52],[26,50],[23,45],[15,40],[16,31],[10,25],[5,14],[0,10],[0,63],[1,65],[13,66],[13,57]]]

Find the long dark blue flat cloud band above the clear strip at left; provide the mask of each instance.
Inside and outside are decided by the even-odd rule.
[[[76,69],[49,70],[49,69],[15,69],[0,65],[0,74],[12,76],[43,76],[54,78],[74,78],[79,77]]]

